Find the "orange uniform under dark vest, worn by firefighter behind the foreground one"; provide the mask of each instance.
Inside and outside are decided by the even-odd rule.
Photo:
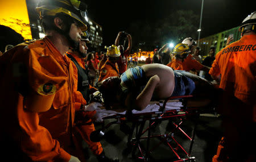
[[[67,52],[68,55],[71,55],[74,59],[76,59],[77,63],[80,65],[81,68],[85,68],[85,61],[83,58],[80,58],[78,53],[72,53],[72,52]],[[75,64],[74,64],[75,65]],[[77,74],[77,69],[76,72],[73,75],[73,78],[75,80],[75,85],[77,89],[77,82],[78,82],[78,74]],[[89,85],[89,89],[92,92],[96,92],[97,89],[94,88],[93,86]],[[82,139],[85,140],[85,142],[88,144],[89,148],[92,150],[92,152],[95,155],[100,155],[101,152],[103,151],[103,148],[101,146],[100,142],[92,142],[90,140],[90,133],[92,131],[95,131],[94,124],[92,122],[92,118],[96,114],[96,111],[80,111],[81,105],[86,105],[86,98],[82,96],[82,94],[76,90],[75,92],[75,101],[76,101],[76,115],[79,115],[82,117],[81,121],[77,123],[76,125],[76,131],[79,132],[81,135]]]

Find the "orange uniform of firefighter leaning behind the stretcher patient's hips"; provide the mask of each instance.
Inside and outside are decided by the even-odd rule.
[[[167,64],[168,67],[171,67],[174,70],[201,70],[204,65],[199,63],[191,54],[188,54],[187,58],[184,59],[184,61],[179,61],[179,60],[172,60],[169,64]]]

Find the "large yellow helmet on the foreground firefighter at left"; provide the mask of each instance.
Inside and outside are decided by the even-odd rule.
[[[39,18],[44,16],[55,16],[58,13],[67,14],[81,24],[81,30],[86,31],[86,4],[79,0],[42,0],[36,11]]]

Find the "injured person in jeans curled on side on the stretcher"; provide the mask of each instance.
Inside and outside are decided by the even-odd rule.
[[[193,95],[188,107],[204,107],[217,102],[218,85],[183,70],[162,64],[130,68],[121,77],[99,83],[106,110],[143,110],[150,101],[171,96]]]

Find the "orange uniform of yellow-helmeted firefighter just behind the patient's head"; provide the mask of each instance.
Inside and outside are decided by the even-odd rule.
[[[102,66],[100,77],[98,78],[98,82],[105,80],[108,77],[119,77],[119,70],[117,63],[111,63],[106,60],[106,63]]]

